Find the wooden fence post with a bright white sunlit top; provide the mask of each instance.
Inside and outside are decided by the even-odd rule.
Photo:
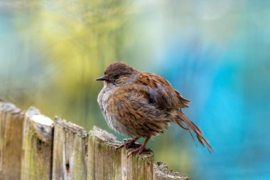
[[[50,180],[53,120],[30,107],[23,125],[22,180]]]

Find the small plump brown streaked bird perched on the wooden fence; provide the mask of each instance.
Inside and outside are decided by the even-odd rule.
[[[121,147],[131,147],[136,140],[146,140],[139,148],[129,152],[140,154],[148,140],[163,132],[170,122],[183,127],[193,141],[192,130],[202,146],[213,152],[201,130],[183,114],[181,108],[188,107],[185,99],[165,78],[153,73],[145,73],[131,68],[126,63],[112,63],[102,77],[104,88],[99,92],[97,102],[110,128],[133,137]]]

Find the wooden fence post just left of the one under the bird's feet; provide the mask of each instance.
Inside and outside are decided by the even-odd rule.
[[[121,179],[120,142],[112,134],[94,127],[88,138],[87,179]]]

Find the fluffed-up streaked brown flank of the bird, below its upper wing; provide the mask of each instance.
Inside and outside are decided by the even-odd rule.
[[[113,112],[121,129],[129,129],[134,136],[151,137],[161,133],[171,121],[171,114],[149,103],[151,98],[144,85],[122,86],[109,97],[107,110]]]

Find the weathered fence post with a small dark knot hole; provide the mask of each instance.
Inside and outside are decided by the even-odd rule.
[[[87,132],[82,127],[55,118],[53,180],[87,179]]]

